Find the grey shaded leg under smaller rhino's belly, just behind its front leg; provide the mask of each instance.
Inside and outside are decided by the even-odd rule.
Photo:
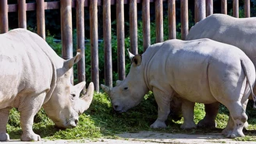
[[[197,125],[194,123],[194,102],[191,102],[189,100],[183,100],[182,114],[184,122],[183,125],[180,126],[180,128],[197,128]]]

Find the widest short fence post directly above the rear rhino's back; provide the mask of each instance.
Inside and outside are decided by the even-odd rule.
[[[201,19],[205,18],[205,0],[195,0],[194,1],[194,17],[195,22],[199,22]]]

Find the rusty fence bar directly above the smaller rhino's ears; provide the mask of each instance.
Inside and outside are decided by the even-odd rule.
[[[137,0],[130,0],[130,51],[138,53],[137,47]]]

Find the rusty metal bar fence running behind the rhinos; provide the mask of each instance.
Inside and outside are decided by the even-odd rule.
[[[227,0],[221,1],[221,12],[227,14]],[[96,91],[99,91],[98,69],[98,6],[103,7],[103,38],[105,51],[105,85],[112,86],[112,45],[111,45],[111,5],[116,5],[116,30],[118,45],[119,79],[125,79],[125,46],[124,46],[124,5],[130,6],[130,51],[137,54],[137,3],[142,5],[143,47],[144,51],[151,45],[150,37],[150,3],[155,3],[156,42],[163,41],[163,2],[168,5],[169,39],[176,38],[176,1],[175,0],[61,0],[59,2],[44,2],[35,0],[26,3],[18,0],[17,4],[0,1],[0,33],[9,30],[8,12],[18,12],[18,26],[27,28],[27,11],[37,12],[37,34],[45,39],[45,9],[60,9],[62,33],[62,58],[73,57],[72,39],[72,8],[76,9],[77,49],[84,53],[84,7],[90,7],[90,39],[91,39],[91,78]],[[213,13],[213,0],[194,0],[195,22]],[[180,0],[181,38],[184,40],[189,29],[188,0]],[[244,0],[244,14],[250,17],[250,1]],[[239,1],[233,0],[233,16],[239,16]],[[89,65],[89,64],[87,64]],[[78,63],[78,81],[85,78],[85,59]]]

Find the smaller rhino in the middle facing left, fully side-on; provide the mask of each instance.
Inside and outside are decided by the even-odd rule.
[[[244,136],[255,68],[239,48],[209,39],[167,40],[151,45],[132,61],[128,76],[117,86],[101,85],[116,111],[135,107],[151,90],[158,104],[158,118],[151,128],[165,128],[173,94],[202,104],[219,101],[233,118],[226,135]]]

